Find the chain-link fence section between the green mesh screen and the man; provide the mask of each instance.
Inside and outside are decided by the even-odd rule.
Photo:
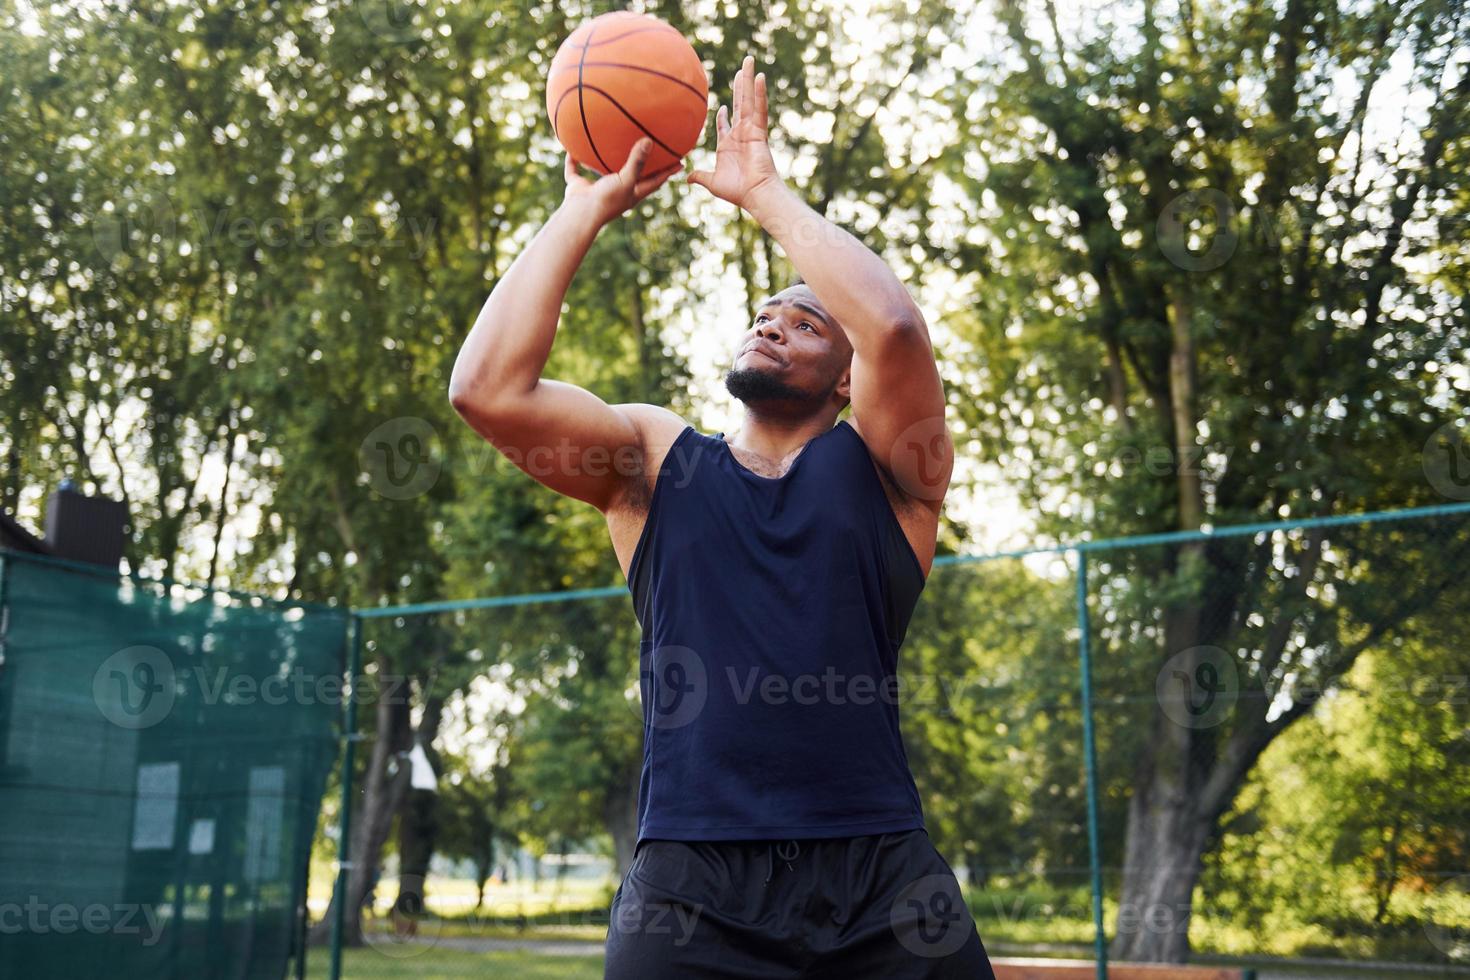
[[[319,883],[315,912],[345,949],[313,964],[340,956],[348,977],[601,976],[642,741],[626,595],[360,610],[347,836],[382,861]],[[343,811],[334,802],[328,823]],[[329,901],[338,890],[345,905]]]

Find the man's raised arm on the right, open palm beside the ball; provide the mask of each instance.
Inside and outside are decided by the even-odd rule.
[[[938,511],[954,472],[954,444],[929,328],[903,282],[867,245],[808,207],[776,172],[767,143],[766,76],[747,57],[734,113],[714,118],[714,170],[688,181],[760,222],[842,326],[853,345],[854,428],[911,498]]]

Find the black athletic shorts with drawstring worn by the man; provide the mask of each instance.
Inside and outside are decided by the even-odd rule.
[[[639,842],[613,896],[607,980],[995,980],[923,830]]]

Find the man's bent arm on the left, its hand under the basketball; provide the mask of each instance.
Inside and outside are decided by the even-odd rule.
[[[672,175],[638,179],[651,145],[642,140],[620,172],[595,184],[567,154],[566,198],[495,284],[450,376],[465,422],[535,480],[604,511],[642,461],[638,416],[541,372],[597,232]]]

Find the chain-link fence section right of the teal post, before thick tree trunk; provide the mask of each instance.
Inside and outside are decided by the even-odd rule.
[[[1113,952],[1470,964],[1470,516],[1083,554]]]

